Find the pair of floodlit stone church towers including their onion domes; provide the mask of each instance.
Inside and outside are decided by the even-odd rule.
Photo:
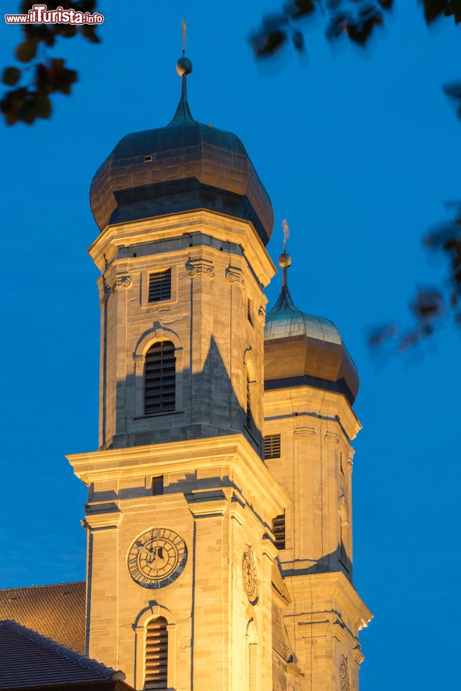
[[[358,690],[350,442],[358,375],[267,253],[270,198],[236,135],[167,126],[95,173],[100,443],[88,487],[86,652],[135,690]]]

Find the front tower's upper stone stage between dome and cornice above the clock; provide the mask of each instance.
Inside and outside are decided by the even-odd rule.
[[[263,287],[274,266],[249,224],[209,211],[163,216],[112,227],[90,252],[102,271],[100,446],[245,433],[248,373],[259,452]],[[149,303],[149,275],[162,269],[171,269],[171,299]],[[149,417],[144,357],[158,340],[175,345],[176,410]]]

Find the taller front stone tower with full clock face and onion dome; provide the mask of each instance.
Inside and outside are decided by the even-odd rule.
[[[272,520],[263,463],[270,199],[241,141],[173,120],[95,174],[100,448],[88,486],[86,646],[135,689],[272,691]]]

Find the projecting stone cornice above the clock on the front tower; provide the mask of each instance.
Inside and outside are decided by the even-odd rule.
[[[245,497],[248,493],[254,497],[254,509],[265,515],[265,520],[272,520],[290,504],[288,493],[274,480],[243,435],[131,446],[73,454],[66,458],[75,475],[85,484],[133,475],[198,470],[214,473],[216,469],[223,472],[227,467],[232,471],[234,481],[243,487]]]

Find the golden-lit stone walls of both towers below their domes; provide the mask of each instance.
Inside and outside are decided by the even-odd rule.
[[[88,486],[88,655],[146,688],[147,626],[160,617],[156,688],[357,691],[358,632],[371,616],[352,587],[360,425],[340,392],[264,391],[274,265],[254,227],[187,211],[109,226],[90,254],[102,272],[100,448],[68,456]],[[149,276],[165,269],[171,297],[149,303]],[[145,415],[158,341],[174,346],[175,406]],[[274,434],[281,457],[264,462]],[[157,574],[166,559],[164,533],[187,558],[170,580],[139,580],[142,560]]]

